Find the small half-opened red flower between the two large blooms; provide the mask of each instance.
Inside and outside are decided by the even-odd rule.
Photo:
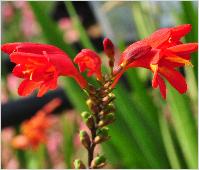
[[[88,69],[87,76],[95,74],[99,80],[102,79],[101,59],[94,51],[83,49],[76,55],[74,62],[78,64],[80,72]]]

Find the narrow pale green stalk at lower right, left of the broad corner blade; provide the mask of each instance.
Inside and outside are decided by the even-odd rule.
[[[167,151],[167,155],[168,155],[171,167],[173,169],[180,169],[181,166],[178,160],[178,156],[174,147],[174,143],[173,143],[170,131],[169,131],[169,125],[168,125],[168,122],[166,121],[166,118],[163,115],[160,116],[160,125],[161,125],[164,145]]]

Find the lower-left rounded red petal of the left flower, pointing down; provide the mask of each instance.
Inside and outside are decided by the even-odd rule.
[[[27,96],[31,94],[36,88],[40,86],[40,82],[34,82],[31,80],[23,80],[18,88],[20,96]]]

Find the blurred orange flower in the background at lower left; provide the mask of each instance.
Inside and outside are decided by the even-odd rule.
[[[21,134],[15,136],[12,146],[16,149],[36,149],[39,144],[45,143],[47,131],[53,124],[49,114],[61,104],[58,98],[47,103],[35,116],[21,125]]]

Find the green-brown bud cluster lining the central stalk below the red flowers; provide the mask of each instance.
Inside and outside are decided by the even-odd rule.
[[[79,134],[81,143],[88,150],[88,157],[90,157],[88,160],[89,168],[100,168],[105,165],[104,156],[93,156],[94,148],[97,144],[110,139],[107,125],[115,120],[115,108],[112,103],[115,96],[112,93],[112,81],[108,76],[105,76],[103,80],[101,87],[98,89],[88,85],[87,94],[89,98],[86,103],[90,112],[82,112],[81,114],[91,132],[89,135],[85,130],[81,130]]]

